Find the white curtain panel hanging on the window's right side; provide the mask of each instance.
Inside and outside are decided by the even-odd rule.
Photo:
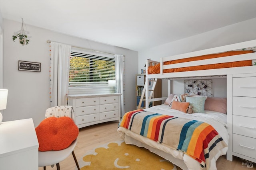
[[[115,54],[116,64],[116,93],[122,93],[121,95],[121,117],[123,117],[124,111],[124,56]]]

